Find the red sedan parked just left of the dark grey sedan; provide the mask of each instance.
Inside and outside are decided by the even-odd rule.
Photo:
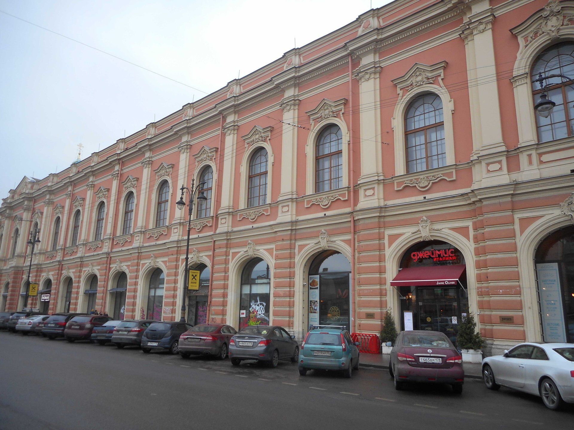
[[[183,358],[204,354],[226,359],[229,342],[236,333],[227,324],[198,324],[181,335],[179,353]]]

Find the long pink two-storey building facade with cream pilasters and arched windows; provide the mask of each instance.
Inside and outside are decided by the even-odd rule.
[[[574,2],[396,0],[0,208],[0,311],[574,341]],[[573,123],[571,124],[572,118]],[[417,277],[418,276],[418,277]],[[187,290],[187,288],[186,288]],[[43,300],[41,300],[43,298]]]

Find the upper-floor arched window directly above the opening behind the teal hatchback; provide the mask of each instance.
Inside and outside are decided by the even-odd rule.
[[[315,154],[315,191],[342,187],[343,134],[339,126],[332,124],[321,131]]]

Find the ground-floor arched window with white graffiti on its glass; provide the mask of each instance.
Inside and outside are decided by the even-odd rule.
[[[239,329],[250,325],[269,325],[270,287],[269,265],[260,258],[250,260],[241,274]]]

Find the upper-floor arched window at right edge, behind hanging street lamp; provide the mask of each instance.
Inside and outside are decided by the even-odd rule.
[[[574,43],[566,42],[563,44],[553,45],[544,50],[534,62],[532,68],[532,78],[542,76],[561,74],[574,76]],[[561,78],[555,77],[544,82],[545,89],[542,91],[538,83],[532,84],[532,94],[534,104],[538,103],[538,96],[545,92],[549,100],[556,103],[552,114],[548,118],[536,116],[536,125],[538,129],[538,140],[548,142],[548,140],[561,139],[574,134],[574,85],[568,85],[568,82]],[[567,106],[567,109],[564,107]]]

